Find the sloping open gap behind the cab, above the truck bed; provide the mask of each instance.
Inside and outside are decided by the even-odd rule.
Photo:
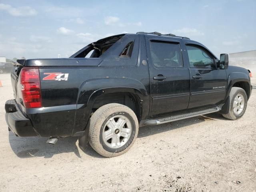
[[[70,58],[98,58],[124,35],[125,34],[120,34],[100,39],[82,48],[70,56]]]

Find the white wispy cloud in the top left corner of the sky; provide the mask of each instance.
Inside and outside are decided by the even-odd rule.
[[[31,8],[30,6],[14,8],[11,5],[3,3],[0,4],[0,10],[5,10],[12,16],[33,16],[37,14],[36,10]]]

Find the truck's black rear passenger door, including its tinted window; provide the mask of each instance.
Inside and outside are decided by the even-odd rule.
[[[176,38],[175,38],[176,39]],[[149,117],[188,108],[190,75],[184,67],[179,40],[146,38],[151,104]]]

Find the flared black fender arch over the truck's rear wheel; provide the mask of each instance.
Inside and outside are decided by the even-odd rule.
[[[138,119],[148,117],[150,98],[141,82],[126,77],[93,78],[83,82],[79,88],[73,133],[84,130],[97,98],[104,98],[107,94],[129,94],[137,105]]]

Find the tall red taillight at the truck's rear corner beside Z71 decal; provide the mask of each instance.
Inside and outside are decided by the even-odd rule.
[[[24,67],[20,71],[22,99],[26,108],[42,107],[39,69]]]

